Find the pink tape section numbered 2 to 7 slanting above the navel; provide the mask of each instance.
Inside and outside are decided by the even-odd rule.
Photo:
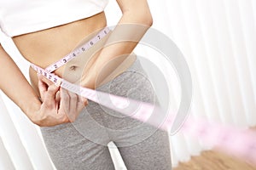
[[[45,71],[53,72],[56,69],[60,68],[62,65],[65,65],[68,61],[70,61],[71,59],[74,59],[76,56],[78,56],[79,54],[83,53],[84,51],[86,51],[87,49],[92,47],[96,42],[100,41],[102,39],[102,37],[105,37],[108,34],[109,31],[110,31],[110,29],[108,27],[103,28],[102,31],[99,31],[96,34],[96,36],[91,38],[87,43],[85,43],[84,45],[82,45],[79,48],[76,48],[73,52],[71,52],[70,54],[67,54],[65,57],[58,60],[54,64],[49,65],[45,69]]]

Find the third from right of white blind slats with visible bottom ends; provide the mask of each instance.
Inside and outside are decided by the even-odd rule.
[[[232,116],[230,111],[230,101],[228,98],[228,89],[226,79],[224,77],[224,65],[220,60],[220,53],[218,48],[217,32],[212,19],[211,7],[209,2],[205,0],[196,1],[197,11],[200,18],[201,33],[204,38],[207,60],[209,69],[212,75],[212,85],[214,93],[216,94],[215,102],[218,105],[218,114],[221,122],[231,124]]]

